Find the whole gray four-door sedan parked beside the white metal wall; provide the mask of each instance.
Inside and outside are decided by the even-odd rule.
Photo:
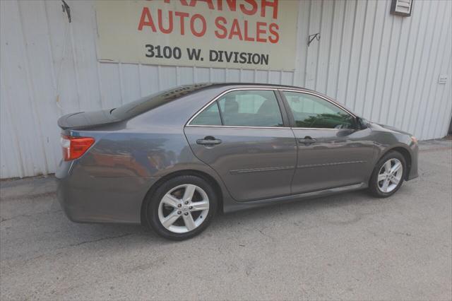
[[[66,215],[172,240],[218,211],[366,188],[387,197],[417,177],[415,137],[292,86],[182,85],[58,124]]]

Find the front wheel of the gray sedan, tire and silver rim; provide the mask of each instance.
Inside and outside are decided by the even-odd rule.
[[[369,190],[374,196],[386,198],[398,191],[405,179],[406,163],[401,153],[391,151],[376,164],[369,181]]]

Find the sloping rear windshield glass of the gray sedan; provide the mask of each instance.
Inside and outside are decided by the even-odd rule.
[[[206,87],[207,85],[208,84],[179,85],[176,88],[163,90],[133,102],[129,102],[121,107],[117,107],[111,110],[110,114],[119,119],[129,119],[144,112],[148,112],[149,110],[153,110],[156,107],[160,107],[161,105],[165,105],[165,103],[172,102],[183,95],[192,93],[200,88]]]

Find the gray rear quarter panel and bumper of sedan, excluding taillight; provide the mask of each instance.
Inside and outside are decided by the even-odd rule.
[[[228,198],[218,175],[193,155],[184,136],[186,120],[202,106],[199,101],[191,95],[125,122],[64,130],[96,141],[81,158],[62,161],[56,173],[66,215],[77,222],[140,223],[150,187],[181,170],[207,173],[220,185],[223,199]]]

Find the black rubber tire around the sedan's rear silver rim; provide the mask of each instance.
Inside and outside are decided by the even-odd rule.
[[[174,189],[174,187],[184,184],[194,184],[203,189],[206,192],[209,199],[209,208],[207,216],[202,217],[204,218],[204,220],[201,223],[201,225],[198,225],[197,228],[189,232],[176,233],[168,230],[162,225],[162,223],[160,223],[160,219],[158,216],[158,208],[160,205],[160,201],[162,200],[163,196],[167,194],[168,191]],[[157,234],[160,235],[161,237],[165,237],[169,240],[186,240],[198,235],[208,227],[210,221],[215,216],[217,207],[218,207],[218,196],[215,192],[215,189],[213,189],[212,185],[209,182],[207,182],[205,179],[201,177],[197,177],[194,175],[181,175],[165,181],[163,184],[160,185],[160,187],[158,187],[155,190],[155,192],[151,196],[149,196],[148,204],[145,207],[145,213],[148,226],[155,230],[155,232],[157,232]]]

